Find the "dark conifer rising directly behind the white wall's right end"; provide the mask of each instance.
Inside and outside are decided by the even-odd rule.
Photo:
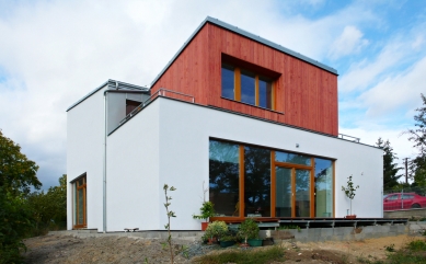
[[[389,140],[383,141],[379,138],[376,142],[376,146],[382,148],[384,151],[383,154],[383,190],[391,190],[399,185],[398,180],[402,176],[398,172],[402,169],[398,167],[395,162],[396,154],[393,152],[391,142]]]

